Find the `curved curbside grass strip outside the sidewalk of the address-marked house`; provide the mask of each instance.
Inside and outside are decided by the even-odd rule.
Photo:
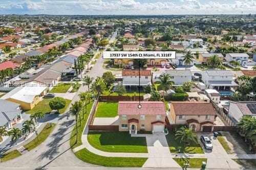
[[[82,161],[110,167],[141,167],[147,158],[105,157],[91,153],[86,148],[77,151],[75,155]]]

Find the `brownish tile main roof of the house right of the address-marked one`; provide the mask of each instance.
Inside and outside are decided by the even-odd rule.
[[[214,107],[207,102],[170,102],[176,115],[216,115]]]

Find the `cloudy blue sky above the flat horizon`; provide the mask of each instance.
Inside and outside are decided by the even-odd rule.
[[[0,14],[256,14],[256,0],[0,0]]]

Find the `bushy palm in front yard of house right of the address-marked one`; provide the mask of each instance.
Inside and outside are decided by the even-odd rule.
[[[182,143],[184,143],[184,149],[186,144],[189,144],[191,141],[195,141],[196,139],[193,134],[193,130],[186,128],[185,126],[181,127],[175,134],[175,139],[180,139]]]

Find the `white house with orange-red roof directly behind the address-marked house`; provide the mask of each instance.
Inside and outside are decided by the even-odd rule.
[[[151,70],[122,70],[122,85],[131,87],[139,86],[139,75],[140,75],[140,86],[145,87],[151,84],[152,73]]]

